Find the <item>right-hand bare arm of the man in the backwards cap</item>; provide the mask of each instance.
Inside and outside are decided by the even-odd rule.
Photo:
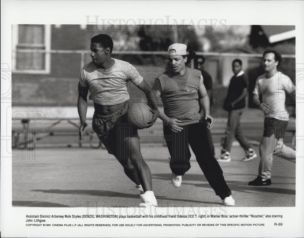
[[[213,126],[213,118],[212,116],[210,116],[210,101],[203,81],[204,79],[203,76],[201,75],[201,80],[199,81],[199,91],[198,91],[199,104],[201,106],[201,110],[199,111],[199,114],[201,115],[201,118],[204,118],[210,123],[208,129],[211,129]]]

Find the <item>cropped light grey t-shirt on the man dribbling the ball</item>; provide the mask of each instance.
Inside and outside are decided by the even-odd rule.
[[[127,82],[139,85],[143,81],[133,65],[123,60],[114,60],[109,69],[96,68],[93,61],[79,73],[81,86],[89,87],[93,102],[100,105],[116,105],[130,99]]]

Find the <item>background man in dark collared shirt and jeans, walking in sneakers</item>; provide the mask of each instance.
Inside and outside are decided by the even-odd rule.
[[[217,160],[219,162],[229,162],[231,160],[230,150],[233,136],[235,136],[241,147],[245,150],[246,156],[242,161],[246,162],[257,157],[257,154],[251,148],[240,127],[240,118],[245,108],[246,96],[248,93],[248,77],[244,74],[244,71],[242,71],[242,61],[239,59],[233,60],[232,71],[234,76],[230,80],[227,96],[223,105],[223,108],[229,112],[225,132],[226,137],[221,156]]]

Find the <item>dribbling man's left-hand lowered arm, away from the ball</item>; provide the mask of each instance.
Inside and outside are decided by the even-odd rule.
[[[88,91],[89,87],[81,86],[80,83],[78,83],[78,103],[77,103],[77,109],[78,109],[78,115],[80,118],[80,128],[79,128],[79,136],[81,139],[85,139],[84,133],[85,133],[85,127],[88,126],[88,123],[86,123],[86,117],[87,117],[87,110],[88,110]]]

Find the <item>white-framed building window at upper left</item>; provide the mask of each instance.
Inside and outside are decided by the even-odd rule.
[[[14,69],[29,74],[50,73],[50,25],[13,25]],[[38,51],[38,52],[37,52]]]

